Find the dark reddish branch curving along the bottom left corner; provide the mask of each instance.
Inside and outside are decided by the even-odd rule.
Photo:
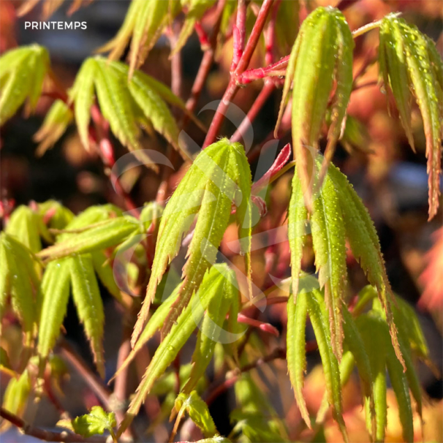
[[[42,428],[35,428],[30,424],[27,424],[23,419],[17,417],[15,414],[11,414],[4,408],[0,408],[0,417],[8,420],[11,424],[19,428],[19,430],[31,437],[38,438],[40,440],[45,440],[45,442],[65,442],[65,443],[104,443],[107,440],[106,436],[103,437],[89,437],[85,439],[81,435],[74,433],[68,433],[63,430],[60,433],[52,432],[51,430],[45,430]]]

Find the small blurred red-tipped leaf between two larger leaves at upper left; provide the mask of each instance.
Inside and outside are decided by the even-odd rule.
[[[56,141],[65,134],[66,128],[72,122],[73,115],[69,106],[58,99],[52,104],[40,129],[33,136],[33,140],[39,145],[37,155],[45,154],[53,147]]]

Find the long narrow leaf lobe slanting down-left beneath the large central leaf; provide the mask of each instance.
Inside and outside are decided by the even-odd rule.
[[[232,277],[233,272],[229,270],[227,265],[219,264],[212,266],[209,272],[206,273],[200,289],[194,294],[191,303],[183,310],[177,322],[172,325],[170,333],[166,335],[156,349],[150,365],[147,367],[145,375],[137,388],[136,394],[131,400],[129,409],[118,430],[118,436],[122,435],[124,430],[131,424],[143,401],[145,401],[147,394],[151,392],[154,382],[166,371],[166,368],[175,359],[177,353],[179,353],[193,330],[195,330],[195,326],[200,323],[204,310],[207,309],[210,301],[218,296],[220,291],[223,291],[225,280],[234,278]]]

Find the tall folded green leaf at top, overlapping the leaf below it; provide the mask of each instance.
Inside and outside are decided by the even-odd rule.
[[[289,58],[275,130],[277,131],[280,125],[289,89],[293,83],[293,150],[305,202],[309,209],[311,209],[314,167],[310,151],[318,147],[321,125],[325,119],[335,80],[337,86],[332,97],[332,123],[320,174],[322,180],[335,150],[351,95],[353,45],[351,30],[344,15],[335,8],[320,7],[304,20]]]

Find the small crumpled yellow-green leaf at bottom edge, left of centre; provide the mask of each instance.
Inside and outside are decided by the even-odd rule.
[[[183,414],[187,412],[191,420],[202,430],[205,437],[214,437],[214,435],[218,434],[207,404],[202,401],[196,391],[188,395],[179,394],[175,399],[175,410],[178,411],[176,424],[179,423]]]

